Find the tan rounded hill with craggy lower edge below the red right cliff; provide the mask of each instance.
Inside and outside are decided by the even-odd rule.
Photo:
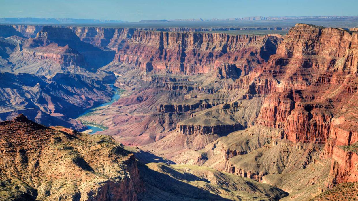
[[[226,160],[224,169],[232,174],[257,181],[269,174],[283,174],[305,169],[314,163],[319,146],[314,144],[298,145],[292,142],[272,141],[271,144],[238,154]]]

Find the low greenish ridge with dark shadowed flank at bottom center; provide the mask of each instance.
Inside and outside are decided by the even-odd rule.
[[[139,200],[279,200],[288,194],[268,184],[204,166],[139,166],[146,191]]]

